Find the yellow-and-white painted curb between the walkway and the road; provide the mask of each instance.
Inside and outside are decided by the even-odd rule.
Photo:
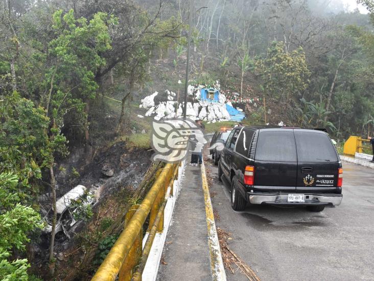
[[[208,230],[208,246],[212,268],[212,280],[226,281],[226,272],[225,268],[223,267],[222,253],[220,243],[218,241],[216,223],[213,214],[213,206],[211,196],[209,194],[208,182],[206,180],[204,162],[201,164],[201,178],[205,200],[206,225]]]

